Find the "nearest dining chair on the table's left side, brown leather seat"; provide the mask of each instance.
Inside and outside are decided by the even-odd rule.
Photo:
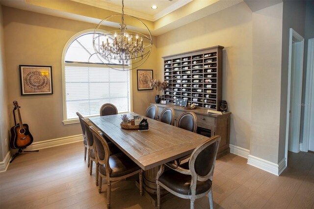
[[[99,193],[102,192],[103,178],[107,182],[107,208],[110,208],[111,182],[113,181],[120,181],[139,174],[139,192],[142,196],[143,170],[124,153],[108,155],[110,148],[107,142],[94,127],[90,126],[89,129],[93,133],[99,162]]]

